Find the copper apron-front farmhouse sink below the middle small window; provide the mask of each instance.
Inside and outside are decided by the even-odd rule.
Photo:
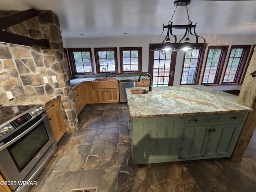
[[[98,78],[92,82],[94,89],[112,89],[117,88],[116,78]]]

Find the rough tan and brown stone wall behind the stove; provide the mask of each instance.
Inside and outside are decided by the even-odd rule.
[[[0,11],[0,17],[16,12]],[[5,31],[36,39],[49,39],[51,49],[0,43],[0,104],[8,102],[8,91],[12,92],[14,99],[43,94],[60,95],[67,132],[76,132],[77,116],[58,16],[52,11],[40,11],[38,16]],[[48,77],[49,83],[44,83],[43,76]],[[58,83],[52,82],[52,76],[56,76]]]

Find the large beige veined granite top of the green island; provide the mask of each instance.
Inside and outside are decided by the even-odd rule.
[[[134,89],[144,88],[126,88],[131,118],[252,111],[236,103],[238,96],[203,85],[153,87],[148,94],[132,94]]]

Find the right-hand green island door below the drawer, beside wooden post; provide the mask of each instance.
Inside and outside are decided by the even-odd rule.
[[[214,125],[206,147],[205,157],[229,157],[232,154],[242,124]]]

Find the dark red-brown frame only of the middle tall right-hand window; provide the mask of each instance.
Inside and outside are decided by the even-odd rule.
[[[205,60],[205,65],[204,65],[204,71],[202,73],[202,81],[201,84],[202,85],[218,85],[220,83],[220,78],[221,78],[221,74],[223,72],[223,68],[224,68],[224,64],[225,64],[225,60],[226,60],[226,56],[228,54],[228,45],[223,45],[223,46],[208,46],[207,49],[207,56],[206,56],[206,60]],[[214,83],[203,83],[204,80],[204,72],[205,72],[205,68],[206,68],[206,63],[207,63],[207,58],[208,58],[208,54],[209,54],[209,49],[222,49],[222,55],[220,56],[220,63],[217,69],[217,73],[216,73],[216,80]]]

